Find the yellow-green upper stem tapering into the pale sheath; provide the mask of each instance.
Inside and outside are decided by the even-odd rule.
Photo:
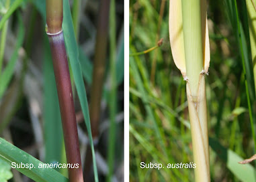
[[[203,70],[200,0],[182,1],[182,19],[187,78],[196,100],[199,75]]]

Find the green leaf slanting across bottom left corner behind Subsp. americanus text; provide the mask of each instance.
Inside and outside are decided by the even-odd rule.
[[[5,139],[0,138],[0,159],[6,161],[9,165],[17,164],[30,164],[30,169],[28,168],[15,168],[17,171],[23,173],[30,179],[38,182],[45,181],[59,181],[67,182],[68,179],[58,173],[56,170],[48,167],[42,167],[44,163],[38,159],[32,157],[28,153],[22,151],[21,149],[15,147],[11,143],[5,141]],[[16,167],[17,167],[16,165]],[[32,166],[33,165],[33,166]],[[42,168],[40,168],[42,167]]]

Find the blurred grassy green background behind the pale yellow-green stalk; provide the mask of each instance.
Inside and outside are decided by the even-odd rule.
[[[245,1],[208,1],[210,68],[206,76],[211,181],[255,181],[245,75],[255,123],[255,91]],[[130,181],[194,181],[193,169],[141,169],[193,161],[185,81],[169,43],[169,1],[130,1]],[[236,11],[237,10],[237,11]],[[240,29],[238,28],[240,27]]]

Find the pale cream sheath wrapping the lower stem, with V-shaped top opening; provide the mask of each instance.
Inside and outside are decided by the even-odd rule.
[[[204,74],[200,75],[198,87],[198,100],[194,102],[191,96],[189,83],[187,88],[187,102],[189,120],[191,123],[191,136],[193,145],[194,162],[196,163],[196,181],[210,181],[208,126],[206,111],[206,90]]]

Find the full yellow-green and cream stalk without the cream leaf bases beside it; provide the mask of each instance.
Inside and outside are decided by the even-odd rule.
[[[182,19],[187,76],[187,101],[196,181],[210,181],[206,90],[204,81],[201,1],[182,1]]]

